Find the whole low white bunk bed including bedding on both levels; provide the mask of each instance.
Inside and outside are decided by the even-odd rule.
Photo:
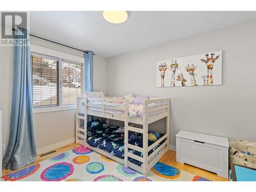
[[[137,110],[137,111],[136,111]],[[93,121],[88,121],[89,117],[99,117],[98,122],[102,122],[103,126],[108,124],[106,132],[100,132],[103,136],[110,135],[110,120],[119,120],[124,122],[124,133],[112,134],[114,138],[104,138],[102,135],[92,133],[90,129]],[[148,141],[148,124],[166,118],[166,132],[161,134],[160,138],[155,142]],[[133,124],[133,125],[132,125]],[[111,127],[117,129],[117,127]],[[154,130],[157,131],[157,130]],[[88,135],[90,132],[90,135]],[[115,132],[115,131],[114,131]],[[128,135],[131,132],[140,134],[138,141],[129,141]],[[120,153],[111,153],[105,143],[108,139],[113,141],[116,137],[123,138],[123,151]],[[91,142],[92,138],[97,142]],[[93,139],[93,140],[94,140]],[[106,139],[106,140],[105,140]],[[116,139],[118,140],[118,139]],[[119,139],[120,142],[120,139]],[[145,176],[150,169],[164,156],[169,146],[169,99],[168,98],[150,98],[144,100],[142,105],[129,104],[129,99],[119,98],[77,98],[76,109],[76,143],[79,143],[91,150],[111,158],[125,167],[130,167]],[[138,144],[139,143],[139,144]],[[120,145],[120,143],[119,143]],[[101,147],[102,146],[102,147]]]

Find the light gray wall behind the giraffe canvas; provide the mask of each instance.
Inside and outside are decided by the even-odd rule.
[[[189,29],[188,29],[189,30]],[[108,95],[170,98],[170,144],[180,130],[256,141],[255,21],[107,59]],[[156,87],[156,62],[223,50],[223,85]]]

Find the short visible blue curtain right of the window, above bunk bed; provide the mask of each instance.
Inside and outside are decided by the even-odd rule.
[[[93,91],[93,52],[87,51],[84,52],[84,71],[86,78],[84,78],[84,90]]]

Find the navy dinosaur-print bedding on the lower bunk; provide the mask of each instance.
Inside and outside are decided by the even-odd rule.
[[[124,159],[124,133],[116,132],[119,126],[109,126],[103,119],[97,121],[90,121],[87,123],[87,143],[92,147],[100,148],[111,155]],[[130,138],[130,137],[129,137]],[[160,142],[154,147],[148,155],[156,150],[165,140]],[[129,144],[142,147],[142,135],[138,135],[136,139],[129,139]],[[154,142],[148,141],[148,146]],[[142,157],[142,153],[129,149],[129,152]],[[128,160],[138,166],[142,165],[142,162],[128,157]]]

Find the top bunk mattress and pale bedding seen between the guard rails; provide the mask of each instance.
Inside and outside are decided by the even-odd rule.
[[[102,105],[102,101],[89,101],[88,104],[94,104],[94,105],[100,106],[100,105]],[[148,109],[155,108],[157,106],[167,105],[167,104],[168,104],[167,101],[151,103],[151,104],[148,104]],[[106,106],[124,106],[123,103],[113,103],[113,102],[104,102],[104,105],[106,105]],[[91,106],[88,107],[88,110],[102,112],[102,108],[91,107]],[[153,112],[148,112],[148,117],[166,112],[166,110],[167,109],[165,108],[165,109],[160,109],[160,110],[156,110]],[[84,104],[80,106],[80,112],[82,113],[82,111],[84,111]],[[111,114],[124,115],[124,111],[120,111],[120,110],[104,109],[104,112],[111,113]],[[129,115],[129,117],[142,118],[143,117],[143,104],[129,104],[128,115]]]

